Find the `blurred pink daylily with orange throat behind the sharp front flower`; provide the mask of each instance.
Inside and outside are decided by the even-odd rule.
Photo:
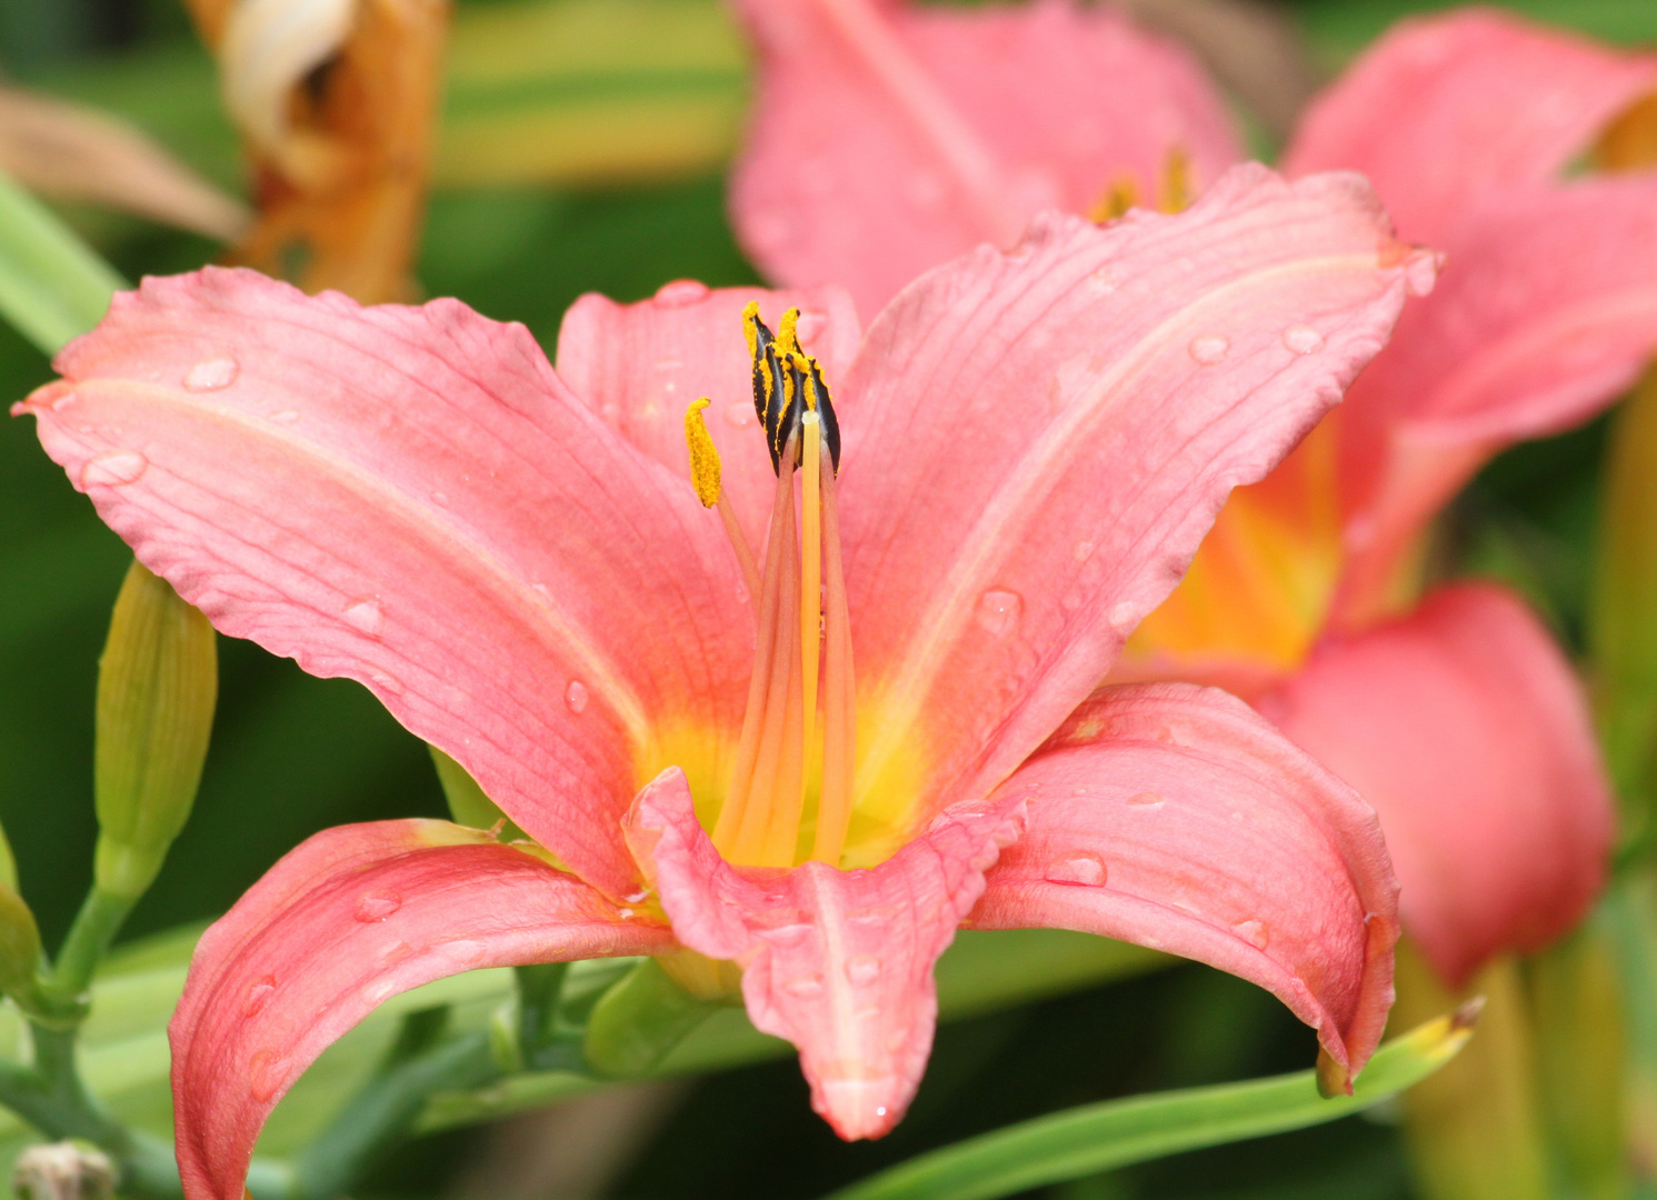
[[[739,12],[761,104],[732,217],[790,285],[833,278],[880,303],[905,272],[1006,244],[1031,210],[1022,181],[1089,212],[1123,177],[1155,199],[1160,162],[1183,156],[1201,187],[1234,154],[1195,65],[1107,12]],[[1002,53],[1006,73],[981,70]],[[1561,181],[1652,91],[1650,55],[1461,10],[1400,23],[1312,103],[1287,174],[1365,172],[1400,234],[1445,252],[1443,282],[1326,426],[1233,497],[1114,676],[1231,688],[1357,784],[1387,830],[1405,930],[1452,983],[1581,918],[1612,819],[1581,688],[1546,630],[1490,587],[1417,607],[1415,564],[1428,522],[1496,451],[1602,409],[1657,350],[1657,174]],[[1109,141],[1100,111],[1115,114]],[[799,162],[815,169],[785,166]],[[948,184],[926,204],[906,191],[920,174]]]

